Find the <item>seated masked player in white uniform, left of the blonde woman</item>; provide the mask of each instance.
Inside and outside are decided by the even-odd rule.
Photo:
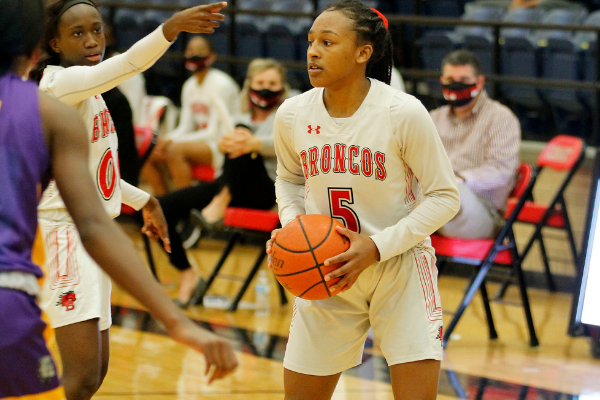
[[[218,141],[231,124],[223,119],[230,119],[239,110],[238,85],[226,73],[210,67],[216,59],[211,42],[204,36],[194,36],[184,55],[185,67],[193,75],[183,85],[179,125],[159,139],[142,169],[142,176],[156,195],[168,192],[162,165],[168,166],[177,189],[192,184],[192,164],[221,168],[223,155]],[[219,107],[225,112],[219,112]]]

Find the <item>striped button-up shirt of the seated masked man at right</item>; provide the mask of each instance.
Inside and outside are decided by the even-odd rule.
[[[519,166],[517,117],[483,91],[466,117],[456,118],[446,105],[431,111],[431,118],[454,172],[475,194],[504,210]]]

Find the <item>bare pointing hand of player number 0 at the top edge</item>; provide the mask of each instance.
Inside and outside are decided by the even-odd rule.
[[[190,33],[213,33],[219,26],[219,22],[225,20],[223,14],[219,14],[227,2],[219,2],[187,8],[173,14],[163,25],[165,38],[172,42],[177,38],[179,32]]]

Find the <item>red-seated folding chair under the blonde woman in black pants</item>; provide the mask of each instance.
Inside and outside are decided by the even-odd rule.
[[[221,268],[225,264],[225,261],[227,260],[227,257],[233,250],[234,246],[242,236],[259,235],[265,239],[266,243],[266,241],[271,237],[271,232],[273,229],[279,227],[279,215],[274,211],[230,207],[225,212],[223,225],[226,230],[231,232],[231,236],[227,242],[227,245],[225,246],[225,249],[223,250],[223,253],[221,254],[221,258],[213,268],[206,282],[201,281],[192,293],[190,304],[202,304],[206,292],[210,289],[216,278],[241,281],[242,286],[236,293],[228,308],[229,311],[235,311],[242,300],[242,296],[244,293],[246,293],[248,286],[250,286],[252,279],[254,279],[254,276],[260,269],[262,262],[267,256],[265,244],[261,242],[261,249],[258,257],[256,258],[254,265],[245,278],[220,274],[219,272],[221,271]],[[281,285],[278,285],[278,287],[281,305],[287,304],[285,290]]]

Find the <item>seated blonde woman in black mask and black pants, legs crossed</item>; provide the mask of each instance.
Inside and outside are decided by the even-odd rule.
[[[242,115],[238,117],[236,128],[218,142],[219,151],[225,155],[223,173],[212,182],[159,198],[169,225],[171,264],[181,271],[177,296],[181,306],[187,306],[199,277],[190,266],[175,227],[189,218],[192,209],[202,210],[196,214],[201,223],[214,227],[219,225],[228,206],[262,210],[275,206],[277,163],[273,122],[288,89],[286,71],[279,62],[253,60],[242,89]]]

